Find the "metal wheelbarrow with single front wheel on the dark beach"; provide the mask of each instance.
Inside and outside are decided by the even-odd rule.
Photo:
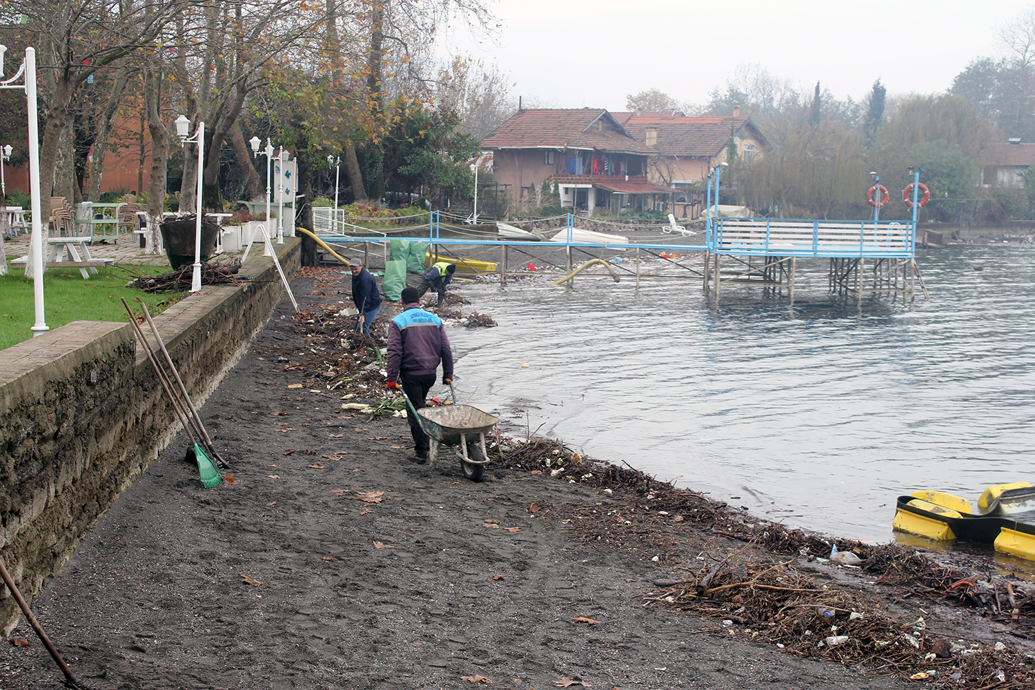
[[[439,448],[449,446],[460,457],[464,476],[480,482],[489,452],[485,450],[485,432],[492,430],[499,419],[469,404],[456,404],[456,390],[449,384],[453,404],[416,410],[410,397],[403,392],[406,407],[411,415],[417,416],[420,428],[432,440],[428,458],[434,464],[439,456]]]

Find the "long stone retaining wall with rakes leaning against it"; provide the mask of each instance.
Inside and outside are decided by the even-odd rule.
[[[301,244],[286,242],[290,276]],[[272,259],[253,254],[239,275],[252,280],[206,287],[154,318],[197,407],[284,295]],[[26,599],[179,428],[128,323],[77,321],[0,351],[0,558]],[[4,634],[20,616],[0,581]]]

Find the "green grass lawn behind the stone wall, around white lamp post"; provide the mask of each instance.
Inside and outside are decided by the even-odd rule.
[[[132,266],[132,273],[160,275],[168,266]],[[140,311],[137,300],[143,300],[152,314],[177,302],[186,293],[145,293],[125,283],[132,275],[119,267],[98,268],[96,275],[83,279],[78,268],[50,268],[43,273],[43,314],[47,326],[54,330],[72,321],[129,322],[120,298]],[[0,275],[0,350],[28,340],[29,330],[36,323],[32,280],[19,267],[8,268]]]

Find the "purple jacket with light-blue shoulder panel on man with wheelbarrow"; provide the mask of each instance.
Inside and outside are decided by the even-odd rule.
[[[434,374],[442,362],[442,376],[452,379],[452,349],[442,320],[416,302],[388,322],[388,381],[400,373]]]

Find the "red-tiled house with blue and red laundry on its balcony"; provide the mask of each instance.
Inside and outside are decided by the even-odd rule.
[[[589,214],[659,207],[676,191],[648,178],[653,150],[602,109],[522,110],[481,148],[519,207],[545,180],[557,184],[561,206]]]

